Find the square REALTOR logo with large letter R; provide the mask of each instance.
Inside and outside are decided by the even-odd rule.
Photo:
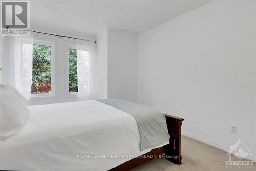
[[[0,4],[0,35],[30,35],[30,1],[0,1]]]

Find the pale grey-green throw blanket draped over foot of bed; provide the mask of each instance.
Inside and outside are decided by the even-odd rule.
[[[140,133],[140,151],[169,141],[166,119],[161,112],[147,106],[120,99],[100,99],[116,109],[129,113],[138,124]]]

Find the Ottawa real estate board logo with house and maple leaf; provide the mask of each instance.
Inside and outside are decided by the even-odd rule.
[[[234,159],[232,159],[232,154]],[[253,162],[245,159],[252,153],[241,140],[238,140],[234,145],[230,145],[227,155],[229,155],[229,160],[226,161],[227,168],[253,168]]]

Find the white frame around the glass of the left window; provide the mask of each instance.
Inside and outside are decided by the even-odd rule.
[[[26,42],[27,40],[24,38],[22,44]],[[28,98],[55,97],[55,42],[48,38],[34,36],[33,45],[51,46],[51,93],[30,94]]]

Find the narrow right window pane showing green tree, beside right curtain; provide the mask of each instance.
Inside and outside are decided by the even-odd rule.
[[[69,49],[69,92],[78,92],[76,49]]]

